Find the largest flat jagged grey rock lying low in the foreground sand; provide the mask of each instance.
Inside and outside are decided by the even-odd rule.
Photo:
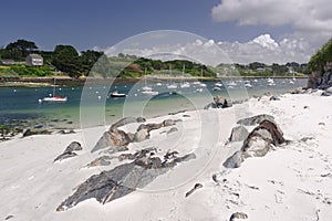
[[[95,198],[104,204],[124,197],[137,188],[144,188],[155,178],[176,166],[176,164],[173,164],[165,167],[158,157],[146,157],[146,151],[143,151],[143,157],[138,157],[133,162],[124,164],[110,171],[102,171],[90,177],[77,187],[72,196],[58,207],[56,211],[72,208],[90,198]]]

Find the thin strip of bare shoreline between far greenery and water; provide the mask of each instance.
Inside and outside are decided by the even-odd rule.
[[[194,81],[222,81],[222,80],[250,80],[250,78],[268,78],[269,76],[222,76],[222,77],[167,77],[167,76],[146,76],[149,83],[157,83],[163,81],[174,81],[174,82],[194,82]],[[292,78],[292,76],[273,76],[271,78]],[[297,76],[295,78],[308,78],[308,76]],[[112,84],[134,84],[143,81],[143,77],[133,78],[90,78],[80,77],[72,78],[68,76],[55,76],[56,85],[61,86],[84,86],[86,81],[89,85],[110,85]],[[53,85],[54,77],[0,77],[0,87],[44,87]]]

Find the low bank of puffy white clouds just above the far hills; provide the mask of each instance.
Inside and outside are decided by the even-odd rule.
[[[270,34],[262,34],[242,43],[216,43],[214,40],[197,39],[177,44],[157,44],[146,48],[127,46],[122,48],[121,51],[116,46],[111,46],[104,51],[110,56],[121,52],[164,61],[185,59],[212,66],[220,63],[305,63],[310,59],[308,53],[310,45],[304,39],[284,38],[277,42]]]

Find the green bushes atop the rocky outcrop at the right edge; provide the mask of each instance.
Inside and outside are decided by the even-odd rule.
[[[311,56],[308,63],[308,72],[322,72],[326,62],[332,62],[332,39],[330,39],[321,50]]]

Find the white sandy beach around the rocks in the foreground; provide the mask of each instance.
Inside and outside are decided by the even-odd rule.
[[[157,147],[195,152],[142,190],[106,204],[95,199],[56,212],[58,206],[91,175],[118,165],[86,168],[104,127],[70,135],[37,135],[0,143],[0,220],[229,220],[245,212],[247,220],[330,220],[332,218],[332,97],[286,94],[280,101],[249,102],[225,109],[179,113],[148,119],[181,119],[178,131],[152,133],[148,140],[128,146],[129,152]],[[290,144],[261,158],[248,158],[237,169],[222,162],[241,147],[226,145],[231,128],[242,117],[270,114]],[[189,115],[184,116],[184,115]],[[124,126],[134,130],[138,124]],[[160,134],[162,133],[162,134]],[[86,134],[91,136],[86,137]],[[84,135],[84,137],[83,137]],[[76,157],[53,162],[71,141],[80,141]],[[86,140],[86,143],[84,143]],[[217,175],[218,183],[212,180]],[[195,183],[203,188],[185,197]],[[12,217],[11,217],[12,215]]]

